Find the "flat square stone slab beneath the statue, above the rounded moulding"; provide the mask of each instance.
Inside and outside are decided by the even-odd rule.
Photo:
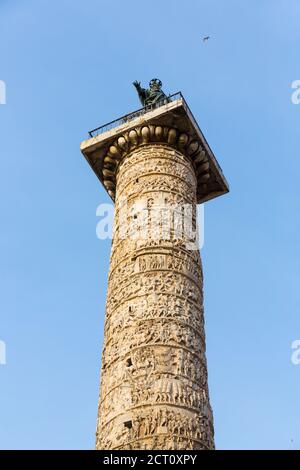
[[[161,126],[176,131],[179,138],[172,141],[183,153],[190,156],[197,176],[197,203],[221,196],[229,191],[228,183],[223,175],[211,148],[203,136],[192,112],[181,93],[173,95],[175,100],[159,107],[145,109],[131,113],[101,128],[91,131],[95,135],[81,143],[80,150],[97,177],[107,189],[107,182],[103,174],[104,159],[112,145],[122,135],[128,135],[131,130],[142,126]],[[180,144],[181,136],[188,136],[188,140]],[[159,141],[161,143],[161,141]],[[155,143],[155,140],[150,143]],[[181,145],[181,147],[180,147]],[[111,172],[110,172],[111,173]],[[112,179],[113,179],[112,175]],[[109,191],[114,200],[113,191]]]

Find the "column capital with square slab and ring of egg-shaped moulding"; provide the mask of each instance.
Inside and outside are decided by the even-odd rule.
[[[138,117],[133,114],[129,120],[124,118],[124,124],[83,141],[80,149],[115,201],[120,162],[138,147],[149,144],[167,145],[191,160],[197,178],[197,203],[229,191],[223,172],[183,97]]]

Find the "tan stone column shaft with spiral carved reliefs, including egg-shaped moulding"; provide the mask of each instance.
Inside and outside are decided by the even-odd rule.
[[[216,189],[215,162],[186,132],[149,122],[104,148],[115,226],[96,448],[213,449],[194,234],[199,193]]]

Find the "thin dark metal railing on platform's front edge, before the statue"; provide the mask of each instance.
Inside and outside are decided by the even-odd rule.
[[[182,96],[182,93],[179,91],[177,93],[174,93],[173,95],[167,96],[166,98],[164,98],[161,101],[158,101],[155,104],[144,106],[143,108],[140,108],[137,111],[133,111],[132,113],[125,114],[125,116],[115,119],[114,121],[108,122],[107,124],[104,124],[103,126],[96,127],[96,129],[93,129],[92,131],[89,132],[89,136],[96,137],[97,135],[102,134],[103,132],[107,132],[113,129],[114,127],[121,126],[122,124],[127,124],[133,119],[143,116],[143,114],[149,113],[150,111],[153,111],[154,109],[160,108],[161,106],[164,106],[167,103],[171,103],[172,101],[176,101],[180,99],[182,99],[184,104],[187,106],[186,101]]]

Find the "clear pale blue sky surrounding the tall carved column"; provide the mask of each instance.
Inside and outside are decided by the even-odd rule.
[[[216,446],[300,448],[299,17],[299,0],[0,0],[2,449],[94,446],[109,198],[79,145],[152,77],[231,189],[202,249]]]

